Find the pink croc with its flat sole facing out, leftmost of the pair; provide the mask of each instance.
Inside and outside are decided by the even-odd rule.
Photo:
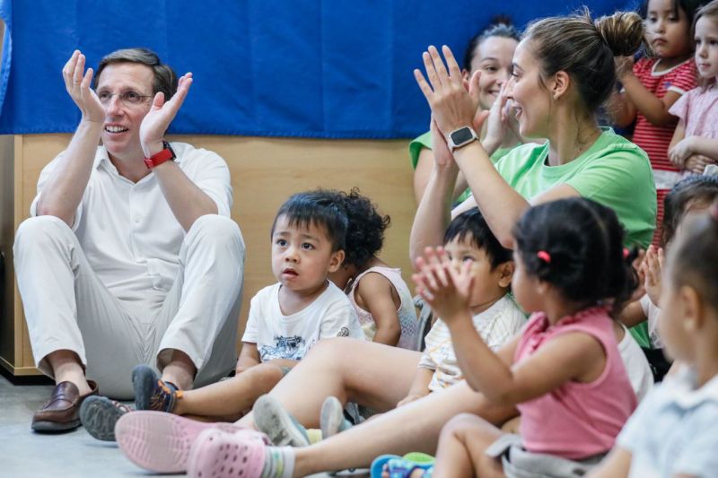
[[[207,429],[245,430],[232,423],[206,423],[164,412],[125,413],[115,426],[118,446],[127,458],[155,473],[184,473],[189,450]]]

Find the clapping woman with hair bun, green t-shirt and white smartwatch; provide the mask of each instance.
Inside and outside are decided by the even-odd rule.
[[[530,205],[571,196],[613,208],[630,242],[650,243],[656,210],[650,163],[635,144],[597,122],[616,83],[614,56],[631,56],[644,41],[639,21],[635,13],[622,13],[594,26],[586,14],[530,26],[498,101],[512,103],[521,136],[547,143],[523,144],[496,166],[482,143],[473,141],[477,100],[463,87],[451,50],[443,47],[448,68],[436,48],[424,53],[428,81],[419,70],[415,75],[432,109],[435,161],[411,233],[413,259],[426,246],[441,244],[459,172],[474,195],[453,213],[478,205],[506,248],[512,248],[513,225]],[[632,29],[616,34],[622,22]],[[596,34],[583,38],[590,28]],[[472,89],[479,81],[477,72]]]

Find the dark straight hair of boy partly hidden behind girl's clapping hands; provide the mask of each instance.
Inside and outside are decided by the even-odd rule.
[[[496,239],[477,207],[460,213],[449,223],[443,235],[443,243],[446,245],[454,239],[460,241],[469,239],[471,244],[483,249],[492,268],[512,260],[511,249],[504,248]]]

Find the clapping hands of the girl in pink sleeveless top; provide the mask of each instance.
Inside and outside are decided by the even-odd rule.
[[[442,247],[426,248],[424,257],[416,259],[416,292],[447,324],[462,312],[468,311],[468,299],[474,282],[471,261],[459,269],[451,264]]]

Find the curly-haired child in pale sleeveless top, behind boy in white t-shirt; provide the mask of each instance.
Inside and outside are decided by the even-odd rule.
[[[418,320],[411,292],[401,278],[401,269],[376,256],[390,217],[378,213],[356,188],[349,194],[324,193],[334,204],[341,204],[349,222],[344,264],[329,274],[329,279],[349,295],[367,340],[416,350]]]

